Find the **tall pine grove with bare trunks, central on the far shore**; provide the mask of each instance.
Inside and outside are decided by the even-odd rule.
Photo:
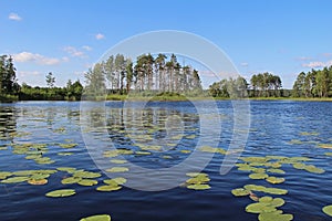
[[[135,64],[123,54],[111,55],[85,73],[86,92],[93,95],[135,92],[196,93],[203,91],[198,71],[180,65],[175,54],[142,54]]]

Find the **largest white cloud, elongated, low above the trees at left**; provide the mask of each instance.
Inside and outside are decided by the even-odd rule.
[[[55,65],[59,64],[62,60],[55,57],[46,57],[41,54],[34,54],[31,52],[21,52],[13,55],[15,62],[35,62],[42,65]]]

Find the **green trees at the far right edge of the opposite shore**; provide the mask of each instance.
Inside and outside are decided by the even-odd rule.
[[[323,70],[301,72],[294,84],[294,97],[332,97],[332,65]]]

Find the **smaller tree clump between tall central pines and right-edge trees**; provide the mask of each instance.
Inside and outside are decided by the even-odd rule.
[[[241,98],[241,97],[289,97],[289,90],[281,90],[280,76],[271,73],[255,74],[250,78],[250,84],[246,78],[221,80],[209,86],[209,93],[214,97]]]

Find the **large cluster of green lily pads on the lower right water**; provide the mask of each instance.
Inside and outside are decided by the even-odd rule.
[[[314,165],[305,164],[307,161],[311,160],[308,157],[241,157],[240,160],[242,162],[236,165],[238,170],[250,172],[250,179],[266,180],[271,185],[279,185],[286,181],[283,177],[280,177],[280,175],[286,173],[284,170],[280,169],[282,165],[291,165],[295,169],[305,170],[312,173],[323,173],[325,171],[324,169],[318,168]],[[278,175],[278,177],[276,175]],[[258,220],[289,221],[293,219],[292,214],[284,214],[283,211],[279,209],[279,207],[284,204],[284,200],[282,198],[271,198],[269,196],[258,197],[258,193],[287,194],[288,191],[284,189],[246,185],[242,188],[231,190],[231,193],[236,197],[249,196],[250,199],[257,201],[247,206],[246,211],[259,213]],[[329,208],[325,210],[329,210]]]

